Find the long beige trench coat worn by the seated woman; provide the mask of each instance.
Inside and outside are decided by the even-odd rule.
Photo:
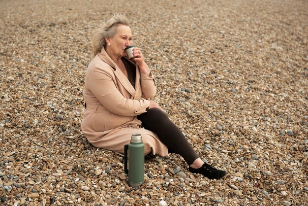
[[[134,62],[130,61],[133,65]],[[84,110],[81,129],[89,142],[99,148],[124,153],[132,134],[141,134],[145,154],[165,156],[167,147],[155,133],[145,130],[137,115],[146,112],[156,94],[154,76],[140,73],[136,66],[135,88],[121,69],[102,49],[88,66],[85,87]]]

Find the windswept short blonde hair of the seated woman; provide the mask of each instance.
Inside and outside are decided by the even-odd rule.
[[[93,57],[95,57],[97,53],[100,53],[103,47],[106,49],[107,43],[105,37],[112,38],[117,34],[119,24],[128,26],[128,21],[121,13],[116,13],[111,19],[99,25],[98,29],[94,30],[92,37]]]

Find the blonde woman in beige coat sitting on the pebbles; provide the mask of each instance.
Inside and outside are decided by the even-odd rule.
[[[162,108],[152,100],[156,93],[154,75],[140,48],[129,60],[124,49],[132,43],[128,22],[114,15],[94,33],[93,56],[88,66],[81,129],[95,147],[123,153],[132,134],[141,134],[145,154],[180,154],[189,171],[210,179],[226,172],[204,163]]]

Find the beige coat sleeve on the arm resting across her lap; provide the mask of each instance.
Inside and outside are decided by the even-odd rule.
[[[118,90],[112,73],[95,67],[87,77],[88,86],[97,100],[109,111],[121,116],[136,116],[146,112],[149,100],[125,98]]]

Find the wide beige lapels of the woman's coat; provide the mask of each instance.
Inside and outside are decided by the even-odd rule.
[[[118,65],[110,58],[110,56],[107,54],[107,52],[105,51],[104,48],[102,48],[101,53],[97,54],[99,56],[99,58],[104,61],[105,63],[107,63],[110,67],[112,67],[114,69],[114,73],[116,75],[116,77],[119,79],[120,83],[123,85],[123,87],[127,90],[127,92],[129,92],[129,94],[131,94],[133,97],[135,97],[136,95],[136,90],[135,88],[137,85],[135,85],[135,88],[133,88],[133,86],[131,85],[131,83],[129,82],[129,80],[126,78],[126,76],[123,74],[123,72],[121,71],[121,69],[118,67]],[[124,57],[126,58],[126,57]],[[127,59],[127,58],[126,58]],[[129,60],[129,59],[128,59]],[[129,60],[130,61],[130,60]],[[133,65],[135,65],[134,62],[130,61]],[[139,69],[138,66],[136,66],[136,79],[137,79],[137,75],[139,74]],[[139,77],[138,77],[139,78]],[[136,81],[137,83],[137,81]],[[139,85],[138,85],[139,86]]]

